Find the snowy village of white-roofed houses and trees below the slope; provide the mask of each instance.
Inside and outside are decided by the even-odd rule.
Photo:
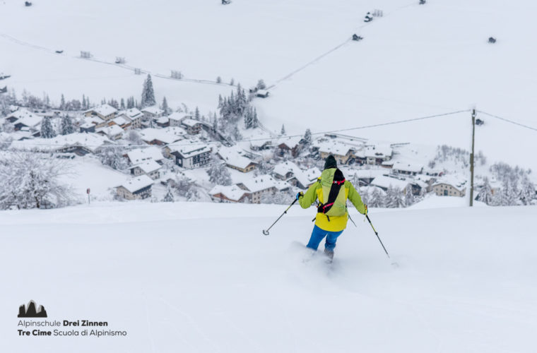
[[[313,135],[309,128],[302,136],[287,136],[285,125],[274,136],[261,125],[251,105],[252,100],[268,97],[265,88],[263,80],[249,92],[240,83],[230,85],[230,96],[220,96],[218,112],[208,116],[197,107],[194,112],[186,106],[174,111],[166,97],[156,104],[151,75],[144,82],[140,104],[129,97],[126,104],[122,98],[90,107],[85,97],[82,102],[65,102],[62,96],[59,106],[51,107],[47,98],[43,101],[24,92],[17,100],[11,92],[1,98],[1,146],[4,158],[30,153],[30,160],[37,157],[49,160],[45,164],[58,164],[57,174],[41,176],[45,178],[59,178],[71,167],[76,179],[78,171],[73,168],[95,168],[100,162],[95,169],[102,171],[102,187],[108,194],[94,196],[98,201],[285,204],[317,182],[329,155],[336,157],[372,207],[407,207],[430,194],[466,196],[467,151],[442,145],[427,160],[427,154],[408,142],[375,143],[333,132]],[[244,131],[252,138],[243,139]],[[482,152],[476,154],[475,162],[484,172],[476,178],[476,201],[529,205],[536,199],[531,171],[501,163],[488,166]],[[4,179],[9,180],[7,174]],[[13,174],[20,177],[20,172]],[[509,182],[512,175],[516,184]],[[30,185],[19,189],[21,196],[16,199],[6,188],[4,194],[10,196],[4,196],[1,204],[4,209],[54,208],[86,201],[67,192],[69,187],[62,186],[61,180],[55,183],[64,192],[36,190],[42,198],[31,203],[22,196],[33,192],[26,189]],[[92,197],[89,186],[88,202]]]

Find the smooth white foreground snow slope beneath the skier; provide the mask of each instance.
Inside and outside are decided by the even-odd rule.
[[[0,213],[0,347],[8,352],[533,352],[535,207],[371,210],[390,266],[352,214],[332,268],[303,263],[312,210],[95,204]],[[8,270],[10,269],[10,270]],[[49,320],[126,337],[18,337]]]

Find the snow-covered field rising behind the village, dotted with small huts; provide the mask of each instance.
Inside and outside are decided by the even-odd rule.
[[[186,103],[203,114],[216,110],[229,85],[264,78],[271,97],[254,103],[261,122],[288,133],[335,130],[477,107],[537,126],[530,34],[534,1],[235,0],[19,1],[0,3],[3,82],[58,102],[89,96],[138,97],[142,76],[153,73],[157,99]],[[364,23],[374,8],[384,16]],[[365,39],[353,42],[358,33]],[[488,44],[488,37],[496,44]],[[55,50],[64,50],[62,54]],[[332,49],[335,49],[332,51]],[[79,59],[81,50],[95,61]],[[326,54],[326,55],[324,55]],[[126,58],[126,66],[114,63]],[[318,60],[316,60],[318,59]],[[103,62],[104,64],[103,64]],[[290,75],[293,73],[293,75]],[[480,114],[476,150],[490,162],[537,169],[535,131]],[[470,148],[469,112],[399,126],[347,133],[389,142]],[[426,131],[427,133],[423,133]]]

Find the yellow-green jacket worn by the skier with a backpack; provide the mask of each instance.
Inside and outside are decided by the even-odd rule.
[[[365,205],[362,202],[362,197],[356,191],[353,184],[350,184],[350,181],[345,181],[345,184],[343,184],[345,187],[345,197],[348,199],[351,203],[353,203],[354,207],[358,210],[359,213],[362,213],[362,215],[365,213]],[[328,197],[328,196],[326,196]],[[315,200],[319,200],[319,202],[323,203],[323,189],[321,186],[321,178],[317,179],[317,183],[313,184],[312,186],[309,186],[309,189],[307,189],[304,196],[300,197],[298,202],[300,203],[300,206],[302,208],[309,208],[309,206],[312,205],[312,203],[315,202]],[[324,213],[317,213],[317,216],[315,216],[315,225],[317,227],[324,229],[328,232],[339,232],[347,227],[347,221],[348,221],[348,211],[343,216],[332,216],[332,217],[326,217]]]

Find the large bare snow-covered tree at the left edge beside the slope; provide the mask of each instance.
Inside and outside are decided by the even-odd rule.
[[[66,164],[38,153],[20,153],[0,160],[0,208],[49,208],[73,201],[69,186],[59,178]]]

